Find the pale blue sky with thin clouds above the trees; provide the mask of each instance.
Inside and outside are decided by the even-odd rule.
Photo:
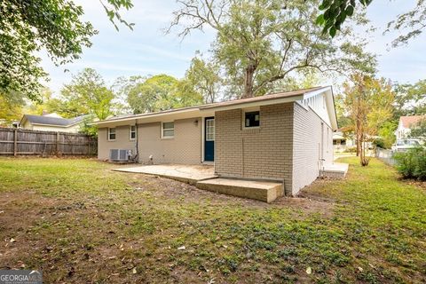
[[[84,67],[95,68],[107,83],[113,83],[119,76],[169,74],[177,78],[185,75],[195,51],[207,52],[215,34],[212,30],[196,32],[183,41],[176,34],[165,35],[177,7],[170,0],[134,0],[135,6],[123,17],[135,23],[135,28],[120,26],[117,32],[107,20],[99,1],[75,1],[85,11],[84,20],[90,20],[99,30],[92,37],[93,45],[85,49],[81,59],[67,66],[54,66],[47,56],[42,56],[42,67],[50,74],[51,81],[46,83],[52,91],[58,92],[64,83],[71,80]],[[397,36],[383,36],[383,30],[389,20],[400,12],[414,7],[415,0],[375,0],[368,7],[367,16],[377,31],[368,35],[368,51],[379,55],[378,75],[398,81],[414,83],[426,78],[426,56],[424,56],[426,35],[419,36],[407,46],[389,50],[389,43]],[[64,73],[67,68],[70,72]]]

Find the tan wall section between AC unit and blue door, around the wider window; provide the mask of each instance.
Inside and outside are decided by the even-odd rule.
[[[195,125],[194,121],[198,121]],[[201,118],[175,121],[175,137],[162,138],[162,123],[138,124],[139,162],[201,163]]]

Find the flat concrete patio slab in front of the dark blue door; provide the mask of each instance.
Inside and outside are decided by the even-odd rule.
[[[131,168],[117,168],[113,170],[168,177],[190,185],[195,185],[201,180],[217,177],[215,176],[215,169],[211,165],[146,165]]]

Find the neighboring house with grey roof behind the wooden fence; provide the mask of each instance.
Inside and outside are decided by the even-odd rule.
[[[20,127],[25,130],[43,130],[77,133],[83,126],[86,115],[75,118],[62,118],[59,114],[33,115],[24,114]]]

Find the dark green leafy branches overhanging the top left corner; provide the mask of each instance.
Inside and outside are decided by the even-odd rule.
[[[100,1],[114,24],[127,23],[121,9],[130,0]],[[36,51],[45,50],[51,60],[64,64],[78,59],[83,47],[91,46],[97,31],[82,20],[83,8],[70,0],[7,0],[0,2],[0,95],[40,99],[40,79],[47,74],[40,67]]]

